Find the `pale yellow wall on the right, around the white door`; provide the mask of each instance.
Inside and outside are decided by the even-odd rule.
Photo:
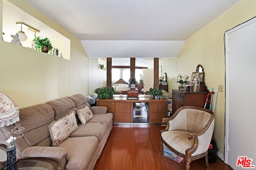
[[[218,92],[215,107],[214,137],[221,154],[225,142],[225,52],[224,33],[256,16],[255,0],[240,0],[226,12],[188,38],[178,56],[178,73],[189,76],[202,64],[208,90],[214,91],[218,84],[224,85],[224,92]],[[238,68],[239,69],[239,68]],[[215,96],[214,96],[215,98]],[[240,100],[240,99],[238,99]]]

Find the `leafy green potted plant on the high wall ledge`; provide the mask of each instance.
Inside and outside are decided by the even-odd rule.
[[[48,51],[50,51],[50,54],[52,54],[53,47],[52,47],[50,39],[48,39],[47,37],[42,38],[42,37],[38,36],[38,37],[35,37],[34,41],[35,41],[34,48],[37,51],[41,50],[44,53],[48,53]]]

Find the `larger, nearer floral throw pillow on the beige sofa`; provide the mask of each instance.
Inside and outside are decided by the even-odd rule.
[[[53,121],[49,125],[52,146],[57,147],[77,128],[75,111],[71,111],[57,121]]]

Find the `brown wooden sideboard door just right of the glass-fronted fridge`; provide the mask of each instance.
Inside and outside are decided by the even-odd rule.
[[[149,123],[162,123],[162,119],[166,117],[167,101],[150,102],[148,107]]]

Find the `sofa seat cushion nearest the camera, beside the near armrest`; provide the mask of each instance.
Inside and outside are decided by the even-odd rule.
[[[66,170],[85,170],[94,152],[98,152],[97,146],[98,139],[94,136],[65,139],[58,147],[68,150]]]

